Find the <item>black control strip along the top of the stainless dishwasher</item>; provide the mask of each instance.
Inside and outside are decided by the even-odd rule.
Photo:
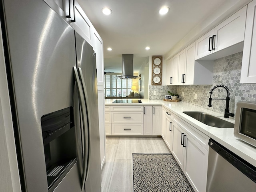
[[[256,167],[242,159],[240,156],[234,154],[234,152],[228,150],[226,147],[222,146],[212,138],[210,138],[208,145],[230,164],[256,183]]]

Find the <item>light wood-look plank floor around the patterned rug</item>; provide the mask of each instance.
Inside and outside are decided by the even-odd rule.
[[[170,152],[158,137],[107,137],[101,192],[133,192],[132,153]]]

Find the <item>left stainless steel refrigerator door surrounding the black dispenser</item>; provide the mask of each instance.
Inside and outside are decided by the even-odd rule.
[[[74,30],[42,0],[0,2],[22,188],[48,192],[40,120],[73,105]],[[54,192],[82,191],[78,164]]]

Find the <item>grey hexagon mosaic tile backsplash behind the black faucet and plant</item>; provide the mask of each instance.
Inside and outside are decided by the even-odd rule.
[[[150,86],[150,94],[154,91],[162,94],[168,87],[171,92],[177,92],[182,102],[190,103],[214,112],[223,113],[226,106],[226,100],[212,100],[212,107],[208,107],[208,98],[210,97],[210,89],[213,86],[223,84],[230,90],[230,112],[236,112],[236,103],[238,101],[256,101],[256,84],[241,84],[241,66],[242,66],[242,55],[243,52],[232,54],[214,61],[214,72],[213,72],[213,84],[210,86],[205,85],[181,85],[181,86],[162,86],[164,88],[154,88]],[[166,90],[167,92],[167,90]],[[165,93],[166,93],[165,92]],[[182,96],[182,92],[184,96]],[[194,99],[194,94],[197,94],[197,99]],[[152,95],[153,95],[152,94]],[[162,99],[154,98],[150,99]],[[226,98],[227,92],[224,88],[216,88],[213,90],[212,98]],[[158,95],[157,95],[158,96]]]

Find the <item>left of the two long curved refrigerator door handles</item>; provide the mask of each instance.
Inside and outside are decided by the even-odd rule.
[[[81,110],[82,110],[82,121],[83,121],[83,128],[84,128],[84,158],[83,158],[83,172],[82,172],[82,183],[81,183],[81,189],[83,189],[84,187],[84,183],[85,183],[85,178],[86,178],[86,172],[87,172],[87,162],[88,162],[88,140],[85,140],[86,135],[88,135],[87,130],[85,129],[85,116],[86,116],[86,103],[85,103],[85,99],[84,99],[84,94],[83,94],[83,90],[82,90],[82,85],[79,79],[79,75],[78,75],[78,70],[75,66],[73,66],[73,70],[74,70],[74,76],[75,76],[75,80],[76,80],[76,86],[78,89],[78,98],[80,101],[80,105],[81,105]]]

